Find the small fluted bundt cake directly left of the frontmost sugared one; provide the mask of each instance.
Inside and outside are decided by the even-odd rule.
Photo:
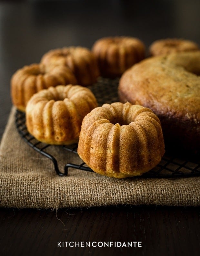
[[[81,123],[97,106],[94,94],[79,85],[58,85],[34,94],[26,106],[26,126],[37,140],[47,144],[78,141]]]

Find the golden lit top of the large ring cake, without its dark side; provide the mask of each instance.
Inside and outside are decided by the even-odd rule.
[[[200,121],[200,51],[153,57],[122,76],[119,94],[132,103]]]

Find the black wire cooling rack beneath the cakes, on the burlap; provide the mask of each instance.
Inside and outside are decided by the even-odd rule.
[[[100,78],[97,83],[90,87],[91,91],[95,94],[99,105],[104,103],[112,103],[118,101],[117,95],[118,79],[110,80]],[[64,166],[64,172],[61,172],[58,168],[58,162],[55,156],[47,153],[47,148],[51,147],[50,144],[44,144],[36,140],[28,131],[25,124],[25,113],[16,111],[15,113],[15,124],[18,132],[25,140],[25,142],[31,146],[35,151],[49,158],[55,168],[55,172],[59,176],[67,176],[68,169],[74,168],[83,171],[93,172],[84,162],[80,165],[73,163],[67,163]],[[63,149],[71,152],[72,154],[77,154],[77,144],[62,146]],[[165,154],[161,162],[149,172],[143,174],[142,176],[137,176],[137,178],[179,178],[179,177],[192,177],[200,176],[200,161],[199,159],[184,159]]]

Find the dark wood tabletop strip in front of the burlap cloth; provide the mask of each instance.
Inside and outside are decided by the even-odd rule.
[[[0,250],[3,255],[197,256],[199,213],[200,208],[158,206],[63,209],[57,212],[1,209]],[[74,247],[58,247],[58,242],[65,241],[73,241]],[[142,247],[75,247],[75,242],[81,241],[141,241]]]

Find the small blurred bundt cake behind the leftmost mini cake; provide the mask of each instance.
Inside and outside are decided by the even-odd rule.
[[[75,74],[78,84],[88,86],[96,82],[99,69],[94,54],[83,47],[65,47],[50,50],[42,57],[46,67],[62,65],[69,67]]]

